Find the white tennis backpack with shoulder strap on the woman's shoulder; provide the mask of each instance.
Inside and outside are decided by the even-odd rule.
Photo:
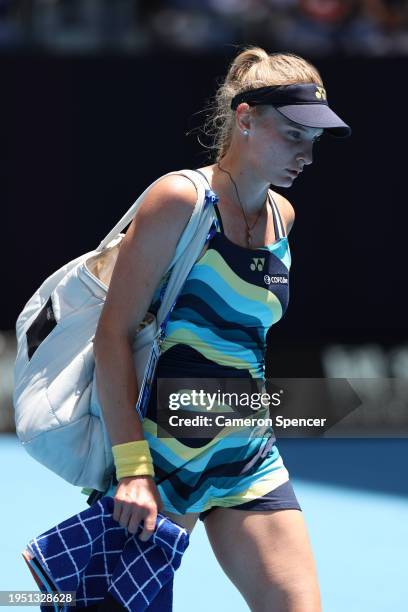
[[[213,199],[205,192],[203,177],[191,170],[169,174],[188,177],[196,187],[197,202],[170,264],[157,316],[147,313],[135,334],[140,389],[135,409],[141,418],[165,321],[213,220],[209,205]],[[43,282],[16,323],[13,402],[18,437],[34,459],[68,482],[100,491],[109,485],[114,464],[95,384],[93,337],[124,236],[121,232],[148,189],[94,251],[70,261]]]

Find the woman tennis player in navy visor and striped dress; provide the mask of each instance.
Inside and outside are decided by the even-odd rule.
[[[294,221],[292,205],[270,186],[294,183],[323,132],[347,136],[350,128],[329,108],[316,68],[260,48],[232,62],[212,124],[216,161],[200,172],[216,201],[214,231],[171,313],[156,376],[262,379],[266,334],[288,304],[287,237]],[[132,330],[157,308],[196,199],[194,184],[181,175],[165,176],[148,191],[123,240],[95,336],[98,393],[118,482],[113,518],[131,533],[143,521],[143,540],[158,511],[189,532],[201,519],[251,610],[319,612],[305,521],[273,431],[160,438],[156,389],[143,423],[134,409]],[[265,280],[271,278],[280,280]]]

